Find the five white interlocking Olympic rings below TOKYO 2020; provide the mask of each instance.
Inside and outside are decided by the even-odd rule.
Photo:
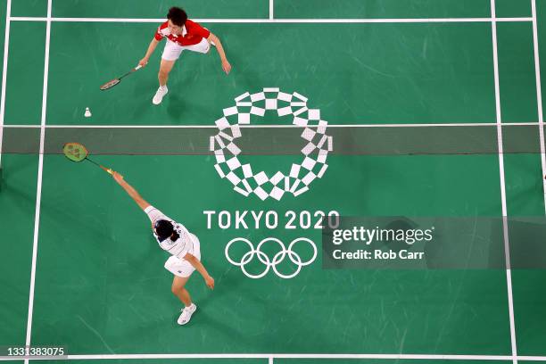
[[[228,253],[231,245],[233,245],[236,242],[243,242],[247,244],[248,247],[250,248],[248,252],[244,253],[243,257],[241,258],[241,261],[234,261],[233,259],[231,259]],[[263,244],[266,244],[267,242],[277,243],[281,248],[279,252],[275,253],[272,259],[269,258],[268,254],[261,251]],[[310,244],[310,247],[313,250],[313,256],[310,258],[309,261],[302,261],[302,258],[296,252],[293,251],[294,245],[298,244],[299,242],[305,242],[307,244]],[[299,237],[297,239],[294,239],[292,243],[288,245],[288,249],[286,249],[285,244],[283,244],[283,242],[281,242],[277,238],[266,237],[258,244],[256,248],[254,248],[254,245],[248,239],[245,239],[244,237],[236,237],[235,239],[232,239],[231,241],[229,241],[229,243],[227,243],[225,253],[226,253],[227,261],[229,261],[231,264],[237,267],[241,267],[241,270],[243,271],[246,277],[249,277],[252,279],[258,279],[268,274],[269,269],[273,269],[273,271],[275,272],[275,274],[277,274],[278,277],[289,279],[289,278],[293,278],[297,276],[302,270],[302,267],[310,265],[310,263],[315,261],[315,259],[317,258],[317,246],[315,245],[315,243],[313,243],[312,240],[306,237]],[[283,274],[279,272],[277,269],[277,264],[284,261],[286,256],[288,256],[288,259],[292,261],[297,267],[294,273]],[[258,260],[261,261],[261,263],[265,266],[265,269],[260,274],[252,274],[245,269],[245,266],[248,263],[250,263],[252,259],[254,259],[254,257],[257,257]]]

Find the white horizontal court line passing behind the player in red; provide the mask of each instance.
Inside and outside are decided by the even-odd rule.
[[[12,21],[47,21],[44,17],[14,16]],[[64,22],[135,22],[161,23],[165,19],[151,18],[52,18]],[[387,19],[194,19],[203,23],[446,23],[446,22],[492,22],[492,18],[387,18]],[[497,18],[496,21],[533,21],[533,18]]]

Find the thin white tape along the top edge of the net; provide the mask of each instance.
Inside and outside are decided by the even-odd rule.
[[[538,126],[539,122],[504,122],[504,127]],[[308,125],[317,128],[318,125]],[[459,122],[451,124],[328,124],[328,128],[454,128],[454,127],[489,127],[497,128],[492,122]],[[39,125],[4,125],[0,128],[41,128]],[[45,125],[45,128],[218,128],[216,125]],[[240,125],[239,128],[302,128],[297,125],[263,124]]]

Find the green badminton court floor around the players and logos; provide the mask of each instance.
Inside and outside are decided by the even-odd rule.
[[[502,18],[494,23],[492,4]],[[535,54],[543,76],[546,0],[191,0],[180,5],[220,37],[232,72],[223,73],[215,49],[186,52],[170,75],[169,94],[155,106],[161,44],[143,70],[100,91],[136,66],[171,5],[2,0],[0,45],[9,36],[2,53],[8,55],[2,58],[4,138],[15,135],[8,130],[40,130],[42,136],[29,134],[20,143],[47,145],[58,130],[102,129],[108,145],[131,127],[145,127],[149,136],[186,127],[213,136],[215,121],[238,95],[278,87],[308,97],[306,106],[320,110],[329,131],[455,124],[497,130],[500,122],[501,131],[503,123],[535,128],[529,143],[543,143],[539,113],[546,99],[537,100]],[[86,107],[91,118],[84,117]],[[251,122],[269,128],[292,120],[268,110]],[[208,136],[195,140],[208,143]],[[322,230],[314,227],[320,211],[543,218],[540,150],[362,155],[339,152],[341,139],[333,143],[324,175],[309,191],[285,193],[280,201],[234,191],[215,170],[213,153],[150,155],[139,153],[138,140],[134,153],[95,151],[95,161],[120,171],[145,200],[199,237],[216,287],[210,291],[198,273],[189,280],[198,310],[186,327],[176,323],[181,305],[163,268],[168,254],[112,178],[91,163],[67,161],[62,145],[42,154],[0,150],[0,347],[68,348],[68,360],[29,360],[45,363],[546,361],[545,269],[326,269]],[[241,161],[268,176],[287,175],[301,156],[284,148],[280,140],[278,153]],[[243,211],[248,227],[235,223]],[[259,226],[252,211],[263,211]],[[268,212],[276,227],[267,226]],[[292,214],[296,226],[287,228]],[[269,237],[284,244],[310,239],[318,246],[316,260],[292,278],[270,269],[258,279],[227,260],[233,239],[255,245]],[[501,255],[505,243],[516,250],[540,242],[499,236],[494,244]],[[244,254],[241,246],[235,255]],[[261,266],[248,269],[257,269],[253,274]]]

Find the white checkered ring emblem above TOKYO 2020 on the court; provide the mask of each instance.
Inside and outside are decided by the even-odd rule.
[[[315,178],[322,178],[328,168],[327,155],[333,148],[332,136],[326,134],[328,123],[320,119],[320,111],[308,109],[307,97],[266,87],[256,94],[245,92],[237,96],[235,102],[235,106],[224,109],[224,116],[216,120],[219,131],[211,136],[210,149],[216,157],[214,168],[220,178],[227,178],[236,192],[278,201],[285,193],[303,194]],[[263,117],[266,111],[277,111],[279,117],[292,115],[292,123],[299,127],[294,128],[294,133],[302,136],[302,161],[272,176],[239,161],[241,149],[236,145],[236,139],[242,136],[241,126],[250,125],[251,115]]]

